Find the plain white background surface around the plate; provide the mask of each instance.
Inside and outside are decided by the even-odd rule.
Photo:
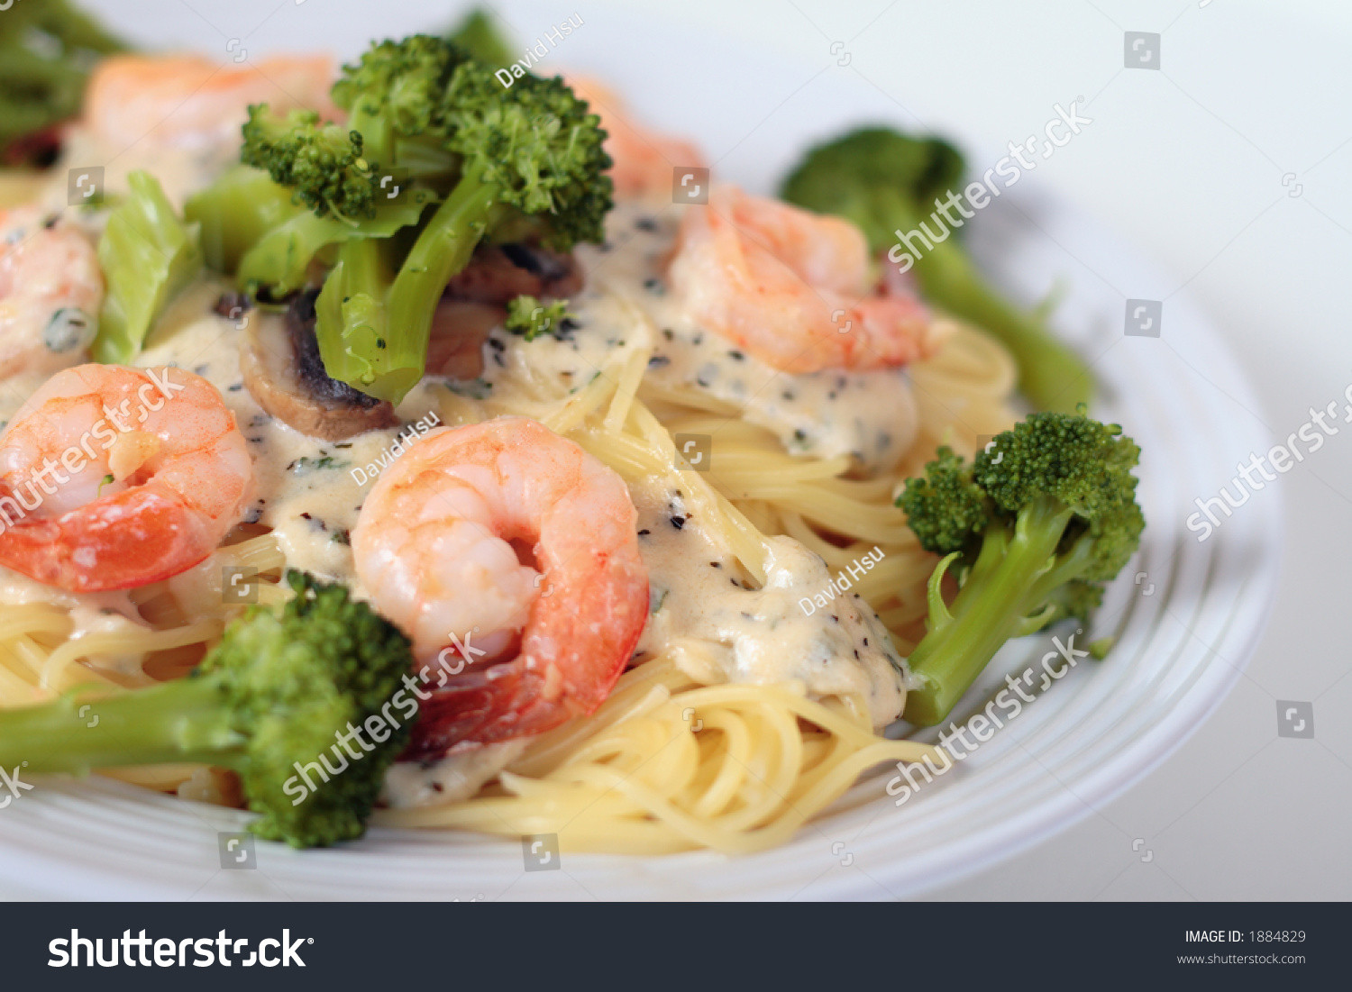
[[[366,34],[397,35],[441,26],[456,4],[93,7],[141,38],[224,59],[231,36],[258,51],[295,50],[306,47],[307,19],[341,16]],[[522,20],[510,1],[495,8],[523,39],[548,27]],[[982,150],[973,165],[1041,132],[1055,104],[1083,96],[1082,114],[1094,123],[1030,181],[1109,223],[1171,274],[1169,285],[1114,287],[1124,299],[1165,300],[1160,346],[1168,297],[1186,288],[1226,331],[1261,397],[1256,410],[1232,403],[1233,416],[1276,438],[1352,384],[1352,5],[1343,0],[565,0],[554,18],[623,19],[638,8],[679,23],[683,43],[691,34],[711,42],[690,46],[687,80],[662,81],[690,85],[690,112],[653,123],[696,134],[715,169],[726,158],[723,174],[744,182],[777,174],[781,162],[756,161],[757,134],[776,126],[795,86],[821,73],[864,80],[895,105],[895,123],[960,134]],[[1161,34],[1160,70],[1124,68],[1125,31]],[[660,47],[676,36],[635,30],[633,45]],[[772,53],[784,70],[760,92],[721,91],[710,61],[738,51]],[[566,66],[565,50],[550,58]],[[790,77],[796,82],[786,85]],[[641,92],[631,97],[642,107]],[[748,122],[740,130],[710,132],[700,123],[717,115],[702,101],[761,109],[738,118]],[[842,107],[836,123],[848,118]],[[1073,261],[1065,276],[1111,285],[1111,273],[1076,270]],[[1205,369],[1195,388],[1214,388]],[[1352,896],[1352,426],[1255,499],[1276,499],[1274,488],[1287,516],[1282,582],[1267,635],[1226,701],[1124,796],[933,897]],[[1279,699],[1313,700],[1314,739],[1278,737]]]

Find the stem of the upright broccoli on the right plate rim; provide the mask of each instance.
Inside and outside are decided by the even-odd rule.
[[[929,633],[907,664],[921,688],[906,696],[906,719],[938,723],[1010,638],[1030,633],[1026,618],[1046,599],[1051,581],[1064,581],[1057,545],[1075,511],[1042,497],[1019,514],[1013,532],[992,526],[982,539],[957,597],[946,614],[932,612]],[[1045,622],[1053,619],[1048,612]],[[1041,626],[1041,624],[1040,624]]]

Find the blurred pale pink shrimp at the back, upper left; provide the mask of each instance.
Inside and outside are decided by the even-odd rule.
[[[333,59],[273,55],[220,65],[203,55],[114,55],[99,62],[85,91],[84,122],[104,141],[132,145],[239,143],[249,104],[334,115]]]

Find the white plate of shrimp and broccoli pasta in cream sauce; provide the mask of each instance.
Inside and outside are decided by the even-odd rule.
[[[15,885],[909,895],[1238,676],[1278,526],[1188,516],[1264,446],[1220,335],[1124,335],[1067,259],[1146,265],[876,96],[749,174],[635,109],[680,64],[622,24],[220,64],[7,18],[80,84],[0,135]]]

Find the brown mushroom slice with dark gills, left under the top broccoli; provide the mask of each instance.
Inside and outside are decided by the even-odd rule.
[[[245,328],[239,368],[245,387],[268,414],[301,434],[342,441],[395,427],[395,408],[330,378],[315,341],[315,296],[297,295],[285,320],[256,315]]]

